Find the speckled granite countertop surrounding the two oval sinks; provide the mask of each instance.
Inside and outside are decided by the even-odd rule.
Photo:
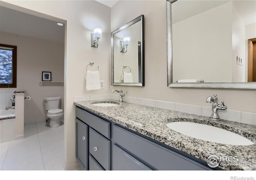
[[[207,161],[210,155],[220,156],[256,156],[256,144],[248,146],[219,144],[192,138],[171,130],[166,126],[168,122],[187,121],[207,124],[240,134],[252,142],[256,142],[256,126],[233,122],[228,120],[211,120],[210,117],[188,114],[173,110],[166,110],[151,106],[144,106],[129,102],[122,102],[119,106],[94,106],[92,102],[104,102],[117,100],[81,101],[74,104],[84,110],[120,124],[130,130],[148,136],[158,142],[162,142],[172,148],[190,154],[203,161]],[[255,166],[218,166],[224,170],[256,170]]]

